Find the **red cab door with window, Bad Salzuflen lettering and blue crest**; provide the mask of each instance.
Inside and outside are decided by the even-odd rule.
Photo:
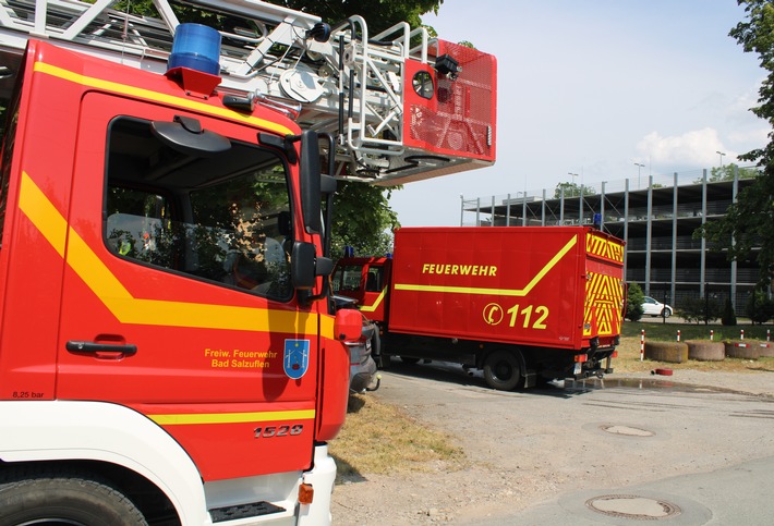
[[[205,480],[304,469],[318,317],[290,289],[289,167],[254,129],[201,111],[83,97],[60,218],[57,397],[147,415]],[[181,122],[228,149],[203,157],[159,137],[160,124]]]

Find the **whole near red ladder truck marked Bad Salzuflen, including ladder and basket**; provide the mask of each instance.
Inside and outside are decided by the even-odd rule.
[[[372,50],[360,17],[111,3],[0,4],[0,524],[327,524],[363,326],[331,175],[492,163],[480,71],[408,25]]]

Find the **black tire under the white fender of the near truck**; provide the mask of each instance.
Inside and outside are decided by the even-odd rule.
[[[105,482],[56,470],[0,477],[0,526],[147,526],[137,507]]]

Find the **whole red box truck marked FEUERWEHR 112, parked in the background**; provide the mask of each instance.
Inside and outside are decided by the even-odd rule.
[[[394,256],[342,258],[332,286],[380,327],[383,366],[452,362],[512,390],[613,371],[622,267],[624,242],[585,227],[402,228]]]

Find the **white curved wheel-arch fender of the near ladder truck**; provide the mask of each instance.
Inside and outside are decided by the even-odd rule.
[[[0,461],[74,458],[131,469],[169,498],[182,524],[208,522],[195,464],[161,427],[141,413],[101,402],[0,402]]]

